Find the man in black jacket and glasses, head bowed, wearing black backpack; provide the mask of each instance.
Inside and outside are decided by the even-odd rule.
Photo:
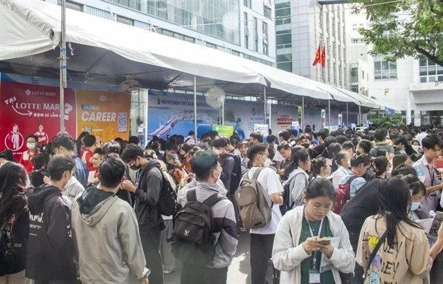
[[[160,163],[156,160],[148,161],[143,154],[143,149],[134,144],[126,146],[122,159],[132,170],[138,170],[135,186],[130,181],[124,181],[122,188],[131,191],[136,197],[134,210],[145,252],[146,267],[151,271],[149,281],[163,284],[160,232],[165,229],[165,223],[157,205],[163,177]]]

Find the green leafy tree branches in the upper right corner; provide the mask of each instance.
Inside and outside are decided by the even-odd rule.
[[[372,55],[388,61],[424,56],[443,66],[441,0],[351,0],[355,13],[365,11],[369,28],[359,28]]]

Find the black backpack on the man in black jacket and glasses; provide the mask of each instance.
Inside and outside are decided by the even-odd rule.
[[[161,172],[161,190],[159,195],[159,212],[161,215],[171,216],[177,213],[177,193],[175,192],[175,183],[168,178],[168,173],[161,170],[159,165],[152,164],[146,169],[146,172],[152,168],[158,168]]]

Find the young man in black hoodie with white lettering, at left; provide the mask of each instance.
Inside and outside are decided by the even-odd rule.
[[[71,157],[55,155],[48,164],[51,182],[35,188],[28,198],[30,229],[26,277],[35,284],[71,284],[77,281],[71,235],[71,204],[62,195],[75,171]]]

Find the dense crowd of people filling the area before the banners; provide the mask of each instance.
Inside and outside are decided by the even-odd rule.
[[[0,283],[441,283],[443,128],[215,131],[103,143],[83,132],[0,153]],[[142,143],[141,143],[142,142]],[[141,148],[141,145],[145,146]],[[252,195],[250,193],[253,193]]]

